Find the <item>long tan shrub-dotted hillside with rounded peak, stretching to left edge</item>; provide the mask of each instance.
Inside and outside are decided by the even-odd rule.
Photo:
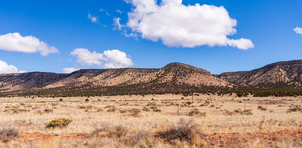
[[[204,89],[233,87],[213,77],[209,71],[182,63],[170,63],[163,68],[82,69],[69,74],[29,72],[0,75],[0,90],[15,91],[29,88],[143,89],[145,91]]]

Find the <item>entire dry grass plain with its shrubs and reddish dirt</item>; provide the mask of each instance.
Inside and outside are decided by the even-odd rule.
[[[301,105],[235,94],[0,98],[0,147],[302,147]]]

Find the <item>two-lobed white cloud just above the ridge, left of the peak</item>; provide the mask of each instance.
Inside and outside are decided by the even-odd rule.
[[[77,48],[70,52],[77,57],[77,62],[82,66],[97,65],[104,68],[122,68],[133,65],[131,58],[125,52],[117,49],[105,50],[103,53],[89,51],[84,48]]]

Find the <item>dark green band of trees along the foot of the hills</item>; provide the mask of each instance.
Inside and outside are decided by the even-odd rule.
[[[79,88],[79,87],[58,87],[50,89],[27,89],[11,92],[0,92],[0,97],[89,97],[89,96],[116,96],[116,95],[147,95],[147,94],[182,94],[184,96],[191,96],[193,94],[207,94],[207,95],[234,95],[238,97],[246,97],[252,95],[254,97],[286,97],[286,96],[302,96],[302,89],[259,89],[259,88],[233,88],[225,89],[218,87],[204,86],[203,89],[198,87],[188,88],[183,86],[174,88],[171,86],[157,86],[157,89],[152,86],[139,87],[132,86],[127,89],[121,87],[102,87],[102,88]]]

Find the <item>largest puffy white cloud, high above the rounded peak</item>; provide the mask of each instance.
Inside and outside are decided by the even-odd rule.
[[[253,48],[250,39],[229,39],[234,35],[237,21],[222,6],[185,6],[182,0],[127,0],[133,6],[126,25],[115,19],[118,29],[140,34],[144,39],[161,40],[173,47],[232,46],[239,49]],[[127,34],[125,34],[127,35]]]

